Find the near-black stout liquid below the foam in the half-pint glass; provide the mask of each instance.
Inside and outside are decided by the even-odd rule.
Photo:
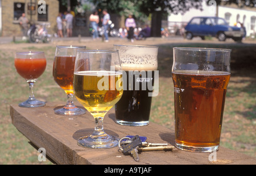
[[[152,93],[150,86],[154,86],[154,71],[150,72],[151,76],[146,71],[145,77],[140,74],[139,77],[134,75],[130,79],[129,72],[126,72],[127,86],[123,83],[123,95],[115,104],[115,119],[133,122],[149,120],[152,97],[148,96],[148,93]],[[136,90],[136,84],[139,85],[139,90]],[[143,86],[145,90],[142,90]]]

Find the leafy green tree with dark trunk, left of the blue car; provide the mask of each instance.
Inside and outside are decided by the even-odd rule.
[[[151,34],[160,37],[162,17],[168,14],[184,14],[194,8],[202,10],[202,3],[205,0],[89,0],[98,9],[108,9],[109,12],[127,16],[133,14],[138,20],[146,19],[151,14]],[[235,3],[238,7],[256,7],[255,0],[207,0],[208,5],[216,3]]]

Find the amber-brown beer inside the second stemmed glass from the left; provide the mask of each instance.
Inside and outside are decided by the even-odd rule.
[[[53,62],[53,78],[67,94],[73,94],[75,60],[72,56],[56,56]]]

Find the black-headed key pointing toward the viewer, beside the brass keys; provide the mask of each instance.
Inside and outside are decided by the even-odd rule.
[[[123,154],[131,154],[135,161],[139,161],[139,155],[138,155],[138,148],[142,147],[142,141],[139,139],[139,136],[136,135],[132,137],[129,141],[131,141],[128,144],[121,144],[123,149]]]

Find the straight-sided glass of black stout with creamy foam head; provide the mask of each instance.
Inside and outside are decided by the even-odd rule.
[[[155,86],[158,86],[158,47],[114,45],[123,70],[123,95],[115,104],[115,122],[121,125],[149,124]],[[155,92],[154,92],[155,91]]]

